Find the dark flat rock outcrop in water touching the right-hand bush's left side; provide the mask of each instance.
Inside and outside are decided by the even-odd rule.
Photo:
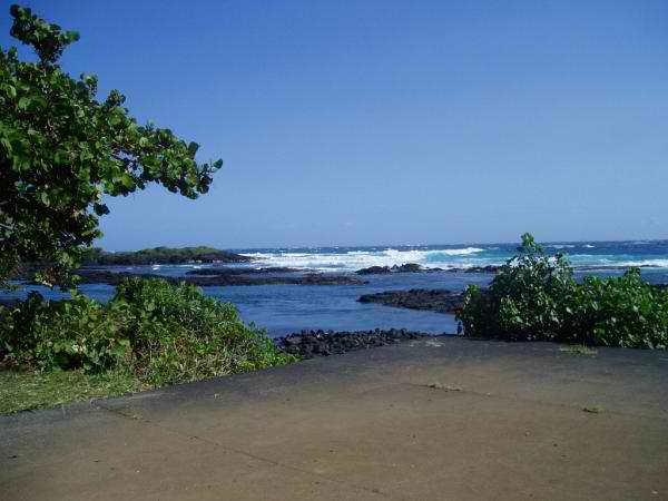
[[[436,313],[456,313],[463,307],[463,293],[448,289],[413,288],[411,291],[387,291],[377,294],[364,294],[360,303],[377,303],[397,308],[425,310]]]

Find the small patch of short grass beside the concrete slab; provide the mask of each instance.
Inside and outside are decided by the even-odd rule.
[[[141,384],[125,372],[92,375],[80,371],[40,373],[0,366],[0,414],[117,396],[140,390]]]

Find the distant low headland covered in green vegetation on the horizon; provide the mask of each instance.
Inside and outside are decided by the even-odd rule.
[[[151,265],[183,263],[247,263],[249,257],[239,254],[218,250],[212,247],[156,247],[137,252],[108,253],[101,248],[88,249],[82,258],[88,265]]]

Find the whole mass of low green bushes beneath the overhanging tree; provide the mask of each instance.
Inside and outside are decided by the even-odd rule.
[[[128,369],[151,385],[294,360],[264,332],[245,325],[234,306],[160,279],[128,279],[107,305],[77,293],[61,302],[31,294],[3,308],[0,321],[6,361],[45,371]]]

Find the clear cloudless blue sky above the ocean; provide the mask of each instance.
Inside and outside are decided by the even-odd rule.
[[[224,160],[197,200],[110,199],[107,249],[668,238],[665,0],[22,4]]]

